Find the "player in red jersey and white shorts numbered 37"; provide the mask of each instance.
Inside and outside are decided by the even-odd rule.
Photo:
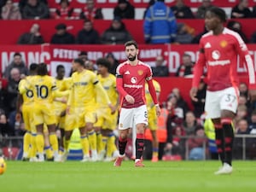
[[[222,167],[215,174],[230,174],[232,168],[232,147],[234,131],[232,119],[235,117],[239,96],[237,75],[237,55],[247,64],[251,98],[256,96],[255,70],[247,45],[240,35],[224,27],[226,14],[214,7],[206,14],[205,24],[209,32],[200,41],[200,55],[194,68],[194,79],[190,90],[195,97],[203,68],[207,67],[207,96],[205,111],[207,119],[212,119],[215,127],[216,144]]]

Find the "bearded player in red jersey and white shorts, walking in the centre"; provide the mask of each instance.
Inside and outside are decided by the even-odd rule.
[[[121,166],[125,157],[125,147],[129,129],[136,125],[136,160],[135,166],[144,166],[141,162],[144,147],[144,131],[148,125],[148,112],[145,98],[145,83],[148,81],[148,90],[159,116],[160,107],[152,81],[151,68],[137,59],[138,46],[135,41],[125,43],[125,54],[128,61],[119,64],[116,70],[117,90],[120,94],[119,114],[119,157],[114,166]]]

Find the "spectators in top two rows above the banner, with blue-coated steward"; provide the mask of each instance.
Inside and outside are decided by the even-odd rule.
[[[203,0],[201,6],[192,11],[183,0],[176,0],[175,5],[168,7],[164,0],[151,0],[145,9],[143,18],[144,41],[146,44],[198,44],[201,36],[207,32],[202,26],[201,32],[195,34],[195,29],[187,23],[178,23],[177,19],[203,19],[207,9],[214,6],[211,0]],[[132,36],[122,20],[135,20],[136,8],[127,0],[119,0],[113,8],[111,25],[102,34],[94,29],[94,20],[104,20],[102,8],[96,7],[94,0],[87,0],[84,8],[73,8],[70,1],[61,0],[57,8],[49,8],[45,0],[3,0],[0,4],[2,20],[84,20],[84,26],[73,35],[67,31],[65,23],[55,26],[55,34],[51,44],[124,44]],[[167,15],[161,18],[157,11]],[[242,25],[236,19],[255,18],[256,6],[248,7],[248,0],[240,0],[227,13],[230,21],[227,27],[238,32],[246,43],[256,43],[256,33],[247,37]],[[162,27],[159,27],[162,26]],[[130,27],[130,26],[129,26]],[[163,30],[164,29],[164,30]],[[44,44],[44,34],[40,33],[40,26],[35,22],[31,30],[20,34],[17,44]]]

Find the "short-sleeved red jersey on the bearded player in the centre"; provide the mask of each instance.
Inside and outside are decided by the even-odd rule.
[[[126,102],[125,96],[120,94],[120,102],[122,108],[137,108],[146,103],[145,98],[145,81],[152,79],[151,68],[138,61],[136,66],[131,66],[128,61],[119,64],[117,67],[117,80],[119,77],[123,79],[123,89],[125,92],[134,97],[133,104]]]

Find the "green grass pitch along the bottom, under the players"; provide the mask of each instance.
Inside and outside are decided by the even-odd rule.
[[[7,161],[0,175],[2,192],[77,192],[77,191],[191,191],[250,192],[256,191],[256,161],[234,161],[231,175],[214,175],[218,161],[143,161],[145,167],[134,167],[124,161],[67,161],[65,163],[30,163]]]

